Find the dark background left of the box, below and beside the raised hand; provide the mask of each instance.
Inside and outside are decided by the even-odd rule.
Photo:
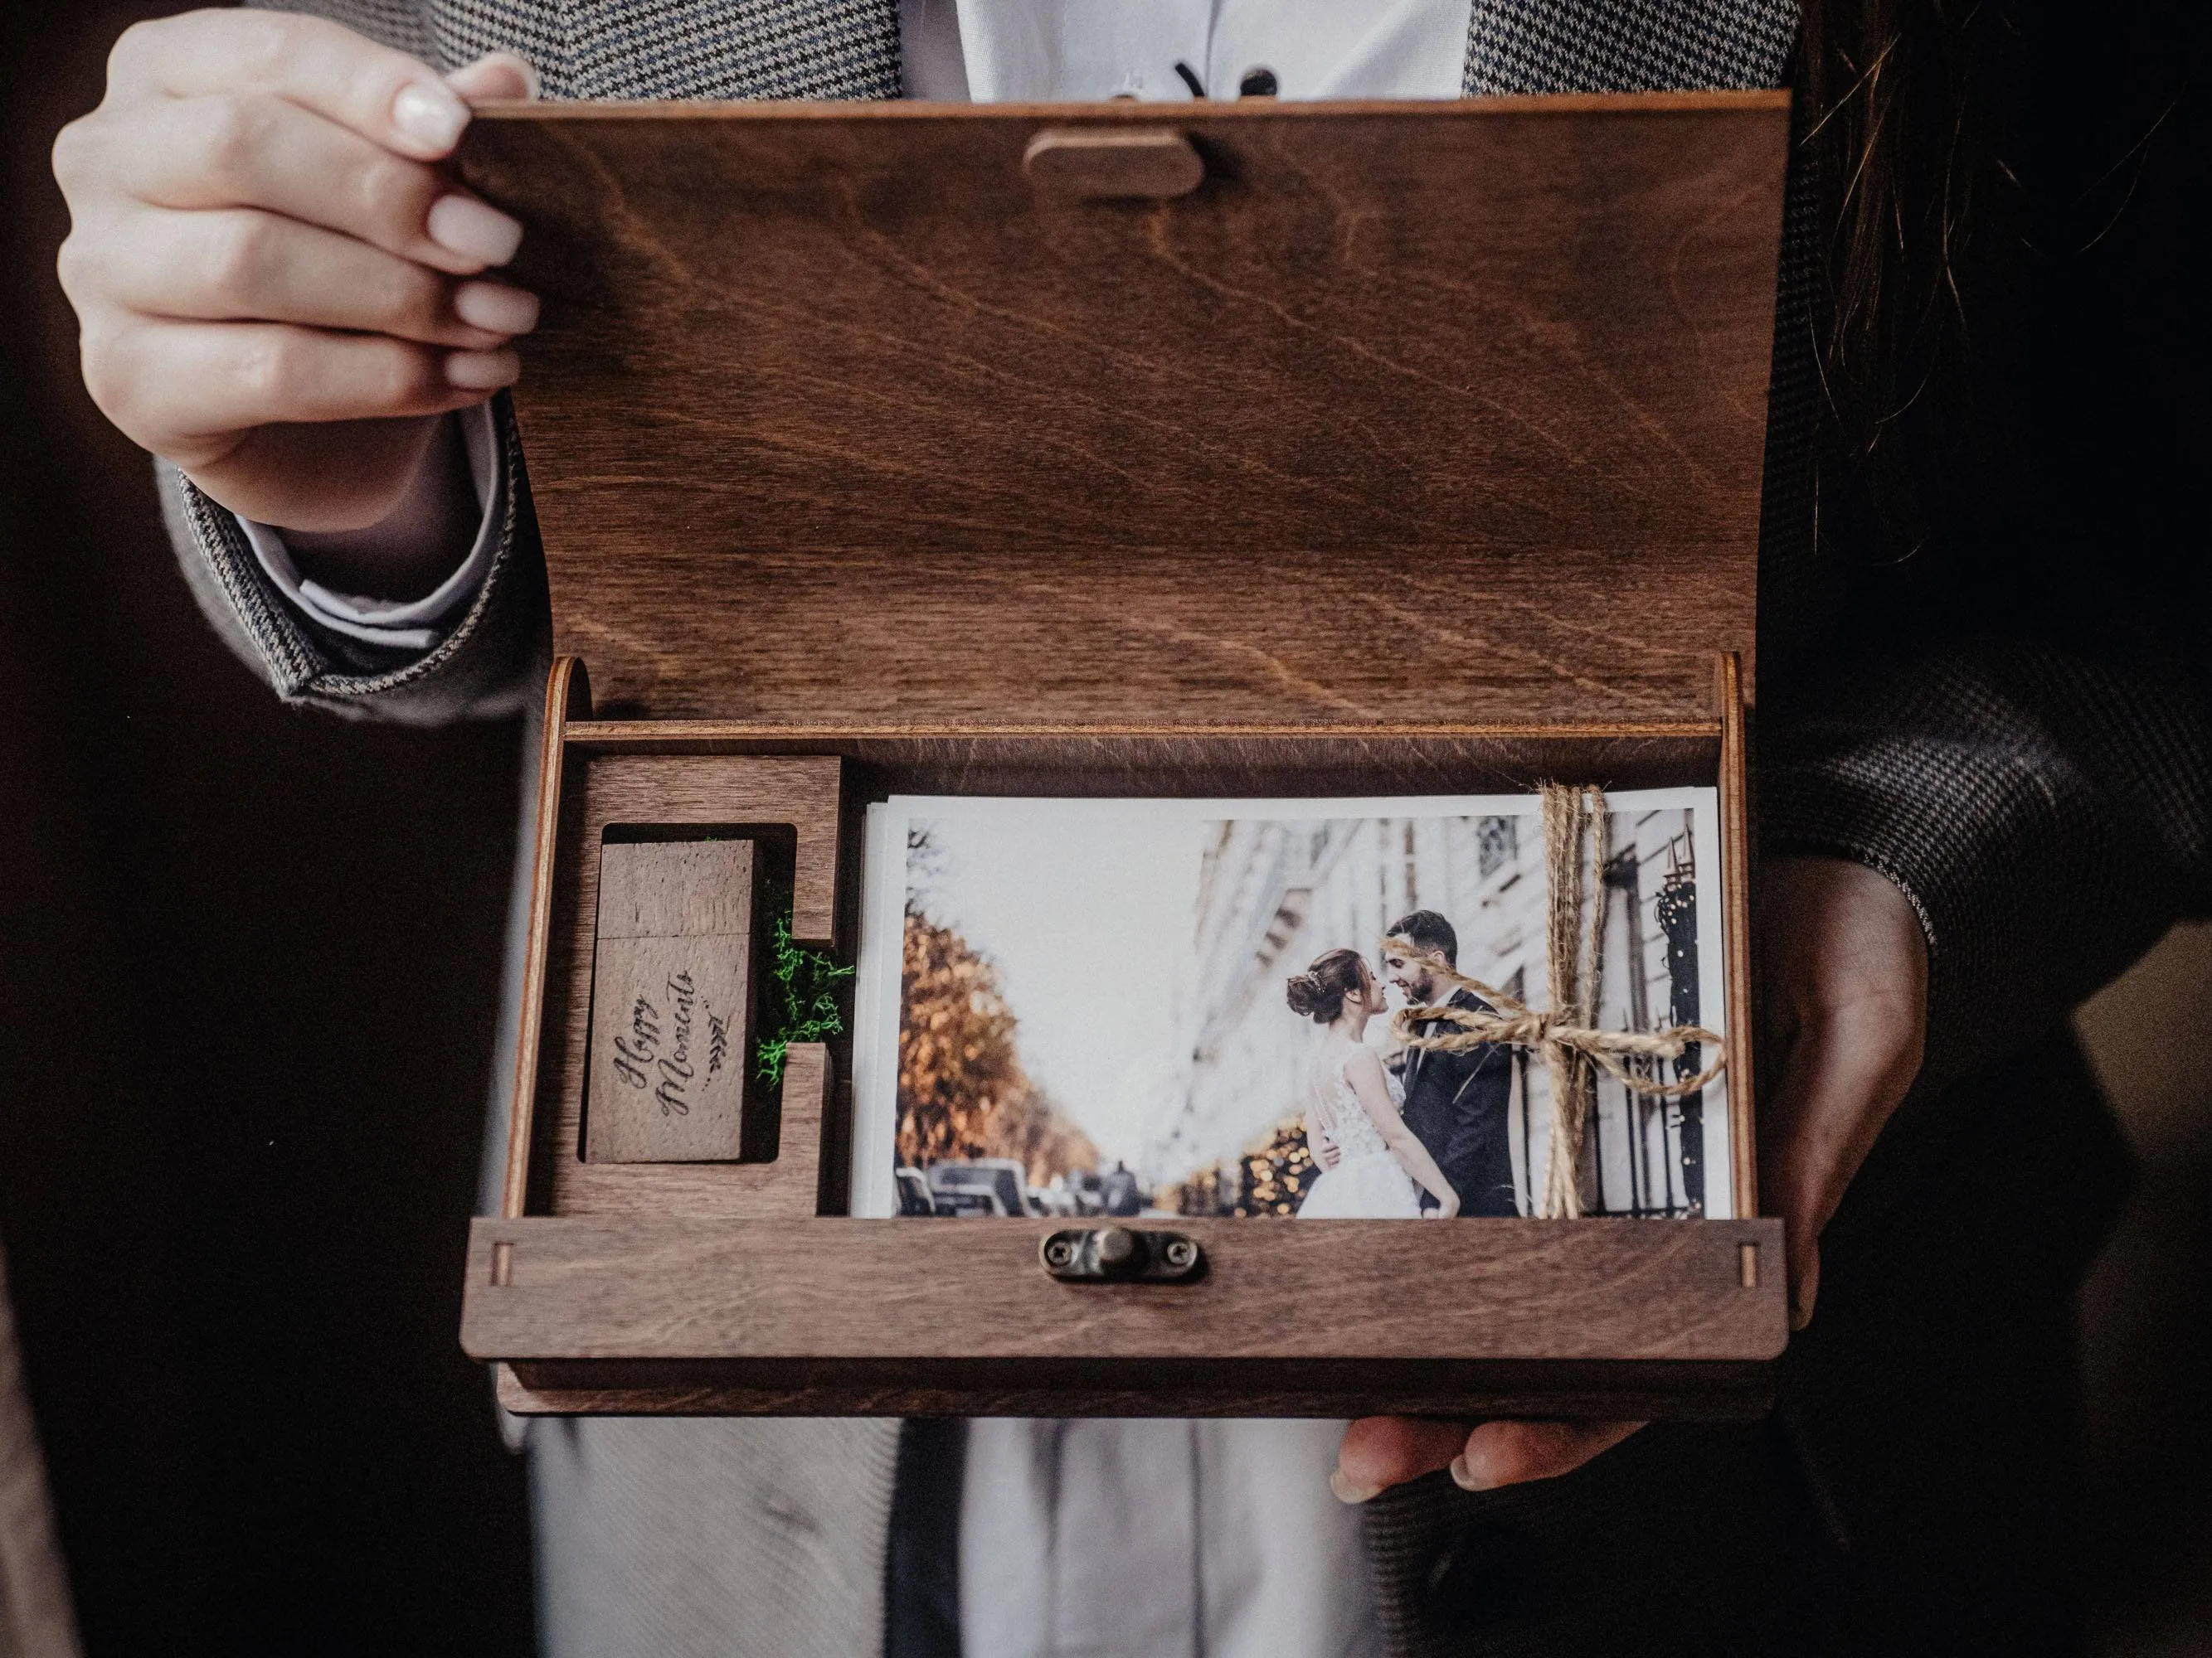
[[[46,146],[173,9],[0,7],[0,1240],[62,1545],[93,1654],[526,1654],[456,1342],[520,734],[281,707],[77,382]]]

